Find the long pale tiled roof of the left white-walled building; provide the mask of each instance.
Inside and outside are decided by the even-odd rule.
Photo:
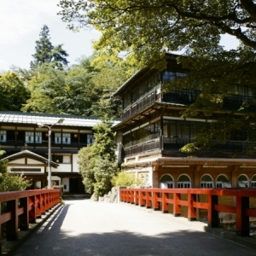
[[[97,117],[85,117],[77,115],[61,115],[61,114],[49,114],[49,113],[20,113],[0,111],[0,123],[13,123],[13,124],[44,124],[53,125],[59,119],[65,119],[61,126],[84,126],[92,127],[101,123],[101,120]],[[113,125],[117,125],[119,120],[114,120]],[[58,124],[56,124],[58,125]]]

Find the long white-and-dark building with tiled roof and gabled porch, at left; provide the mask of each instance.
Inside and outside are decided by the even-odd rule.
[[[61,124],[56,124],[64,119]],[[84,192],[79,174],[78,151],[94,141],[92,127],[100,119],[83,116],[0,111],[0,145],[9,160],[9,172],[23,172],[33,188],[47,186],[48,127],[51,127],[52,184],[63,184],[64,191]],[[54,125],[55,124],[55,125]]]

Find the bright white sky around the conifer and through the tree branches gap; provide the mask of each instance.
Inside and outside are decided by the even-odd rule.
[[[91,41],[100,37],[95,30],[72,32],[67,23],[56,15],[60,0],[0,0],[0,73],[9,67],[29,68],[35,42],[44,25],[49,27],[51,43],[63,44],[69,55],[67,61],[73,64],[82,56],[92,54]],[[223,37],[221,44],[226,49],[236,48],[234,37]]]

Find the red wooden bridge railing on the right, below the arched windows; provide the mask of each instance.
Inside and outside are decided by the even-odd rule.
[[[201,195],[206,201],[198,200]],[[225,196],[234,198],[233,206],[221,204]],[[210,227],[218,227],[218,212],[235,213],[237,236],[250,235],[250,217],[256,217],[256,204],[250,208],[250,199],[256,201],[256,189],[120,189],[120,201],[164,213],[171,205],[175,217],[181,216],[181,207],[187,207],[189,221],[197,219],[197,209],[207,210]]]

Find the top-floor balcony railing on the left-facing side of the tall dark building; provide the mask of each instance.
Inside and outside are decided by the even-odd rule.
[[[148,92],[148,94],[144,96],[143,99],[140,99],[139,101],[131,104],[128,108],[125,108],[122,113],[122,119],[128,119],[134,113],[137,113],[143,108],[146,108],[149,104],[155,101],[155,95],[155,90],[152,90]]]

